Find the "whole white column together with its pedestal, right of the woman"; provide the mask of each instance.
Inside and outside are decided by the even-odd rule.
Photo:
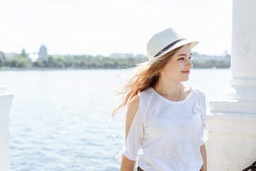
[[[210,102],[209,171],[243,170],[256,160],[256,1],[232,1],[230,86]]]

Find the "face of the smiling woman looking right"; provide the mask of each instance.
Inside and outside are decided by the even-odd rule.
[[[180,48],[168,61],[160,76],[178,82],[188,81],[190,68],[193,67],[191,55],[189,44]]]

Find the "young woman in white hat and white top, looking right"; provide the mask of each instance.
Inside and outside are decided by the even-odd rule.
[[[120,94],[128,105],[126,140],[117,156],[121,170],[200,171],[206,168],[208,140],[205,93],[188,81],[191,48],[198,41],[180,37],[173,28],[148,41],[149,61],[135,68]],[[141,150],[141,152],[140,152]]]

